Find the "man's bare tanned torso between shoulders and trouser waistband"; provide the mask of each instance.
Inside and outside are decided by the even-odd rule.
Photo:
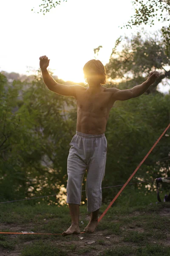
[[[77,131],[85,134],[103,134],[114,101],[109,88],[102,86],[99,93],[90,93],[89,87],[77,92]]]

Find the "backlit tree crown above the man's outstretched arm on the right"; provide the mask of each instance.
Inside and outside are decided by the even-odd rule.
[[[118,50],[119,47],[122,50]],[[169,65],[170,55],[166,54],[164,44],[159,40],[159,34],[155,32],[149,35],[144,32],[141,35],[137,32],[131,39],[121,36],[116,40],[105,68],[111,79],[122,79],[119,83],[119,88],[122,89],[141,84],[150,71],[158,69],[161,76],[147,90],[147,93],[150,93],[156,91],[156,87],[163,79],[170,78]],[[166,82],[168,83],[168,80]]]

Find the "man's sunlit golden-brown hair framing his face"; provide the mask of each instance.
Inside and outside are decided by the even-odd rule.
[[[84,67],[83,67],[83,72],[84,72],[84,78],[86,79],[86,76],[88,75],[88,72],[93,68],[100,76],[101,76],[101,84],[106,83],[106,70],[105,67],[103,66],[102,62],[99,60],[90,60],[88,61]]]

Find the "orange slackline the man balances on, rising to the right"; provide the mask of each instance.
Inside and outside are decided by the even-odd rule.
[[[137,170],[139,169],[139,167],[142,165],[142,163],[146,160],[146,158],[148,157],[148,155],[150,154],[150,152],[153,150],[153,148],[155,148],[156,144],[159,142],[159,140],[161,139],[161,137],[164,135],[164,133],[167,131],[167,129],[170,127],[170,124],[167,126],[167,128],[164,130],[164,132],[161,134],[161,136],[159,137],[159,139],[156,141],[156,143],[153,145],[153,147],[150,149],[150,151],[146,154],[146,156],[144,157],[144,159],[142,160],[141,163],[139,163],[139,166],[136,168],[136,170],[133,172],[133,174],[128,178],[128,180],[126,181],[126,183],[122,186],[122,189],[120,189],[120,191],[117,193],[117,195],[115,196],[115,198],[111,201],[111,203],[108,205],[108,207],[105,209],[105,211],[102,213],[102,215],[99,217],[98,219],[98,223],[99,221],[101,221],[101,219],[103,218],[103,216],[106,214],[106,212],[108,211],[108,209],[112,206],[112,204],[114,203],[114,201],[116,201],[116,199],[118,198],[118,196],[120,195],[120,193],[123,191],[123,189],[125,189],[125,186],[127,185],[127,183],[131,180],[131,178],[135,175],[135,173],[137,172]],[[81,232],[80,234],[83,233],[87,233],[87,232]],[[0,234],[29,234],[29,235],[62,235],[62,234],[48,234],[48,233],[12,233],[12,232],[0,232]]]

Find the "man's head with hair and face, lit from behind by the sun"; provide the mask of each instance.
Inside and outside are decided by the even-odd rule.
[[[88,84],[105,84],[106,70],[102,62],[99,60],[90,60],[83,67],[84,78]]]

